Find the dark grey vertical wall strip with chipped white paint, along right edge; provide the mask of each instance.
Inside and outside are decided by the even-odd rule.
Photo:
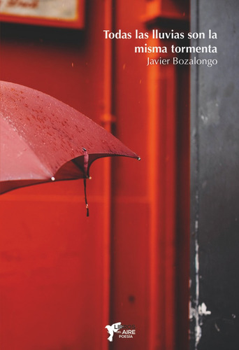
[[[191,349],[239,349],[238,1],[191,1],[191,31],[217,32],[191,67]]]

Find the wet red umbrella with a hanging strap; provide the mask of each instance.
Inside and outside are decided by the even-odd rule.
[[[94,160],[140,159],[103,127],[37,90],[0,82],[0,194],[36,183],[89,178]],[[86,200],[88,214],[88,204]]]

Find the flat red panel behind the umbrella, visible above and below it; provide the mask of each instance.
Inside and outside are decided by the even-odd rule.
[[[80,33],[68,43],[61,35],[69,32],[2,25],[1,80],[41,90],[99,122],[103,8],[97,1],[89,17],[94,26],[87,31],[86,48]],[[103,163],[92,165],[89,218],[82,181],[1,195],[1,349],[106,349]]]

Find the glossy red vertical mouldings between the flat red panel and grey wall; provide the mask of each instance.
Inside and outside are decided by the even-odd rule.
[[[118,2],[116,29],[148,31],[138,22],[145,5]],[[121,162],[115,174],[111,321],[137,329],[133,339],[116,337],[113,349],[186,350],[189,71],[182,92],[178,69],[146,66],[149,55],[136,55],[135,45],[133,38],[116,43],[117,136],[136,145],[142,160],[139,167]]]

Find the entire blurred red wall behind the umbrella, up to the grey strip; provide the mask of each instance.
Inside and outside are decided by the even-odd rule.
[[[11,2],[0,5],[1,80],[73,106],[141,161],[92,165],[89,218],[82,180],[1,195],[1,349],[186,350],[189,66],[147,66],[159,55],[136,54],[135,38],[106,40],[103,29],[187,31],[189,1],[76,1],[76,20],[4,14]],[[108,342],[116,322],[135,325],[133,339]]]

